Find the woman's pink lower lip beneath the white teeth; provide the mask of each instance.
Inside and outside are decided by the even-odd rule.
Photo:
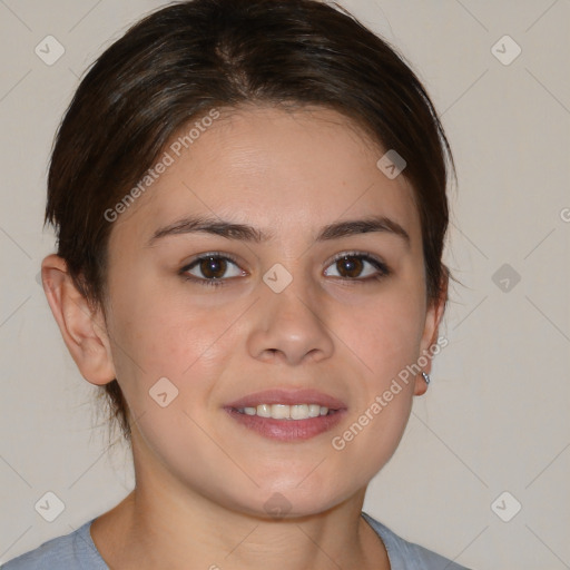
[[[307,417],[306,420],[274,420],[259,415],[247,415],[234,409],[226,412],[245,428],[269,440],[304,441],[332,430],[342,420],[345,410],[337,410],[328,415]]]

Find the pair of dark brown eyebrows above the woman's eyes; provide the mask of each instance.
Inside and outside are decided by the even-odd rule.
[[[410,235],[396,222],[385,216],[367,216],[363,219],[353,219],[337,222],[321,228],[315,242],[328,242],[341,237],[368,234],[373,232],[387,233],[402,238],[410,247]],[[237,239],[242,242],[263,243],[274,239],[272,232],[262,230],[247,224],[235,224],[219,218],[189,216],[168,226],[158,228],[150,239],[147,247],[153,246],[158,239],[183,235],[204,233],[225,237],[227,239]]]

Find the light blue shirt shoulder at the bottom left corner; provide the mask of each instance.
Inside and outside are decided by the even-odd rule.
[[[91,540],[87,521],[73,532],[48,540],[0,567],[1,570],[108,570]]]

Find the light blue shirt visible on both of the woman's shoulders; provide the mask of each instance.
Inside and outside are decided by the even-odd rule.
[[[392,570],[468,570],[407,542],[366,513],[362,515],[384,542]],[[36,550],[10,560],[0,570],[109,570],[89,532],[94,520],[75,532],[48,540]]]

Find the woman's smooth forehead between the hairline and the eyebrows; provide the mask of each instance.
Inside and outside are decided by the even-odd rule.
[[[389,179],[379,169],[383,154],[333,110],[222,112],[170,139],[153,175],[141,179],[144,191],[119,215],[111,240],[142,244],[185,215],[247,223],[276,237],[294,229],[301,238],[332,222],[375,214],[405,226],[414,242],[420,220],[412,188],[402,175]]]

